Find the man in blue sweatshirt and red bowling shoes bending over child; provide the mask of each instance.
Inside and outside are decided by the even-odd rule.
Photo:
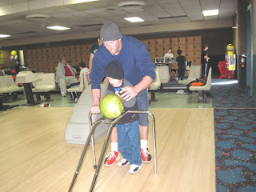
[[[122,34],[114,22],[104,23],[101,29],[101,39],[103,46],[100,46],[94,55],[94,67],[90,73],[93,94],[91,113],[100,113],[100,83],[104,78],[106,66],[114,60],[122,63],[124,78],[133,85],[122,88],[120,91],[122,99],[130,101],[136,97],[138,110],[148,110],[147,87],[155,79],[155,66],[145,44],[136,38]],[[139,114],[139,118],[142,162],[150,162],[151,155],[147,149],[148,115]],[[104,164],[111,166],[116,158],[118,158],[118,135],[114,127],[111,134],[111,152],[107,155]]]

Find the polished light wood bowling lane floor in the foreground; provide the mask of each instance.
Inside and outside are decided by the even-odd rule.
[[[0,191],[67,191],[82,145],[66,144],[64,132],[73,108],[16,108],[0,112]],[[213,109],[154,109],[158,174],[154,162],[102,166],[94,191],[214,192]],[[104,138],[96,142],[96,156]],[[150,126],[149,149],[153,154]],[[74,191],[88,191],[94,176],[91,149]]]

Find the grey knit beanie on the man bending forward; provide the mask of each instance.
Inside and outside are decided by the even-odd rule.
[[[101,29],[102,42],[114,41],[122,38],[118,26],[114,22],[105,22]]]

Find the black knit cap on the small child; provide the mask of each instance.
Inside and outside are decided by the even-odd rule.
[[[109,78],[114,78],[114,79],[123,79],[123,70],[122,70],[122,65],[118,61],[113,61],[110,62],[105,70],[104,70],[105,76]]]

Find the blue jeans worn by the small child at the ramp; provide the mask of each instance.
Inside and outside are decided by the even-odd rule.
[[[138,121],[116,125],[118,130],[118,150],[130,164],[140,166],[142,157]]]

